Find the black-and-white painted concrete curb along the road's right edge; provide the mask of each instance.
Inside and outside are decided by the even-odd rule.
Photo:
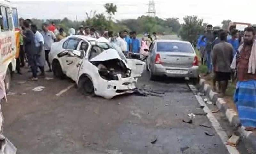
[[[205,95],[210,98],[210,101],[216,104],[220,111],[226,115],[232,126],[237,126],[240,123],[237,113],[233,109],[228,108],[227,103],[222,98],[218,98],[218,93],[213,92],[210,85],[206,84],[204,79],[200,79],[199,86],[204,90]],[[252,148],[256,151],[256,135],[250,131],[245,131],[243,126],[238,129],[238,132],[250,142]]]

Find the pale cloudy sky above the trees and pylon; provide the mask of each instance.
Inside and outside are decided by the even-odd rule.
[[[11,0],[17,4],[19,16],[23,18],[39,19],[69,19],[84,20],[85,12],[91,10],[104,13],[105,3],[117,5],[115,19],[136,19],[138,16],[146,15],[149,0]],[[254,10],[256,0],[155,0],[156,15],[160,18],[196,15],[204,19],[204,22],[214,26],[221,25],[223,19],[235,22],[256,23]],[[93,14],[93,13],[92,13]]]

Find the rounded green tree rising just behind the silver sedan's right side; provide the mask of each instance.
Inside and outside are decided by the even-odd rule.
[[[181,38],[189,42],[196,41],[198,35],[204,31],[203,19],[198,19],[197,16],[186,16],[183,20],[184,24],[179,32]]]

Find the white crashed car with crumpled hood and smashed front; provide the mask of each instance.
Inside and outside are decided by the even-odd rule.
[[[86,95],[111,99],[132,93],[144,62],[126,59],[105,38],[72,35],[53,43],[49,54],[53,74],[74,80]],[[129,67],[131,66],[131,67]]]

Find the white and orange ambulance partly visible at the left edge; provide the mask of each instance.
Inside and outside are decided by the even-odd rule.
[[[0,75],[4,78],[6,92],[10,89],[12,73],[16,69],[19,40],[17,7],[7,0],[0,0]]]

